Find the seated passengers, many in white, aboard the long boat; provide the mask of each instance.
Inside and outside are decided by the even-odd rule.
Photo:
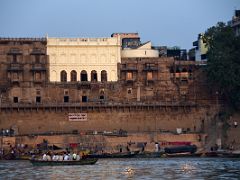
[[[43,161],[79,161],[84,157],[84,154],[61,152],[61,153],[44,153],[42,156]]]

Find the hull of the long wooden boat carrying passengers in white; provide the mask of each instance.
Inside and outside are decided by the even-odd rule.
[[[97,162],[96,158],[86,158],[79,161],[43,161],[31,159],[30,162],[34,166],[73,166],[73,165],[93,165]]]

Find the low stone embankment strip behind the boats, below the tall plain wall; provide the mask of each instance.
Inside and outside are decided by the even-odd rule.
[[[74,148],[75,150],[92,150],[104,152],[118,152],[127,150],[155,151],[155,143],[159,143],[161,148],[173,145],[195,144],[201,150],[204,146],[204,134],[172,134],[172,133],[134,133],[124,136],[109,134],[69,134],[69,135],[49,135],[49,136],[14,136],[1,137],[1,147],[10,150],[16,149],[36,149],[43,142],[47,142],[49,147],[53,145],[61,148]]]

